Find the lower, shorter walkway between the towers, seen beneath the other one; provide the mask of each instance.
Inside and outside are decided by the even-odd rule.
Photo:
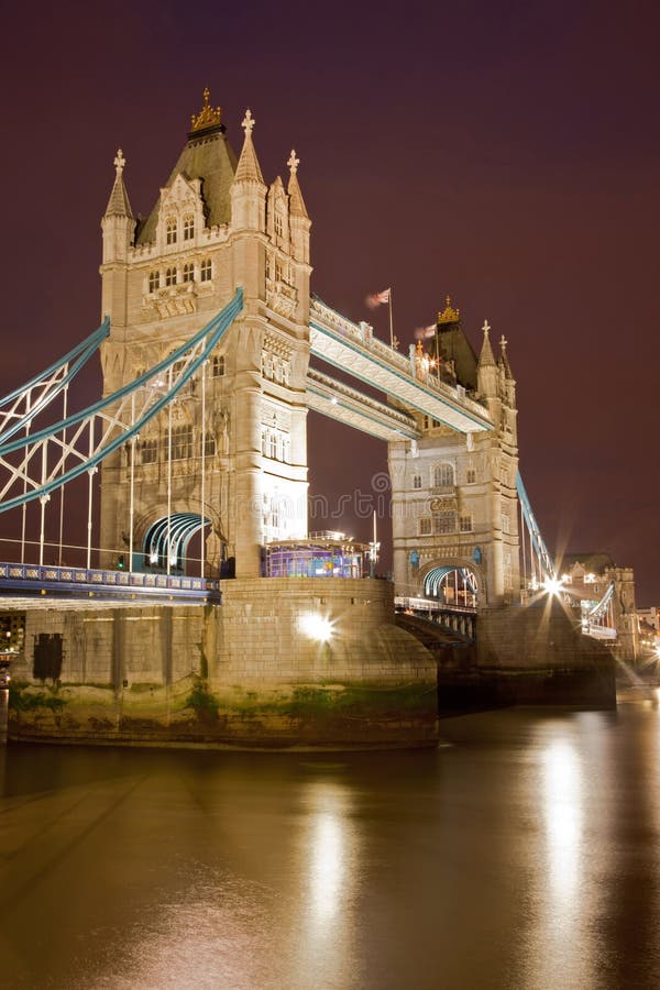
[[[417,440],[420,437],[411,416],[311,367],[307,372],[307,405],[315,413],[380,440]]]

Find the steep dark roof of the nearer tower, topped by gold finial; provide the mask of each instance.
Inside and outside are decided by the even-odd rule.
[[[229,189],[237,170],[237,156],[224,136],[227,128],[221,122],[222,108],[211,107],[208,88],[204,91],[204,105],[199,113],[194,113],[188,132],[188,141],[182,151],[169,178],[168,188],[177,175],[187,179],[200,179],[201,196],[209,227],[229,223],[231,206]],[[151,244],[156,239],[158,207],[155,207],[143,222],[136,238],[138,244]]]

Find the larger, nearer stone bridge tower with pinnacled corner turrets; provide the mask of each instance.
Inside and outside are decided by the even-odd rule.
[[[243,312],[218,345],[205,382],[198,374],[189,383],[140,437],[133,455],[125,450],[103,464],[100,539],[114,554],[127,548],[130,499],[135,548],[164,516],[188,514],[193,528],[202,518],[210,522],[207,570],[218,573],[233,558],[237,575],[245,578],[260,574],[265,541],[307,535],[311,224],[295,152],[287,188],[279,177],[266,186],[253,127],[248,110],[237,163],[220,108],[205,90],[145,220],[133,217],[118,152],[100,270],[102,314],[111,319],[102,350],[105,395],[166,358],[243,288]],[[185,524],[177,532],[187,538]]]

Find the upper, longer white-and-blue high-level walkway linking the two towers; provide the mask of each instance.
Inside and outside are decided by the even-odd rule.
[[[458,432],[493,429],[483,406],[442,382],[415,377],[410,362],[374,338],[370,327],[358,327],[318,300],[311,305],[309,341],[315,356]]]

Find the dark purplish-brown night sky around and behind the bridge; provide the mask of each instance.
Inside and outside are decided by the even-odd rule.
[[[146,213],[209,86],[237,152],[252,109],[266,182],[296,148],[321,298],[386,340],[363,300],[392,285],[406,350],[447,294],[475,348],[485,318],[506,336],[549,547],[608,551],[660,604],[656,3],[120,0],[2,20],[2,394],[100,322],[118,146]],[[372,492],[384,443],[317,415],[309,437],[312,492]],[[331,525],[371,536],[351,513]]]

